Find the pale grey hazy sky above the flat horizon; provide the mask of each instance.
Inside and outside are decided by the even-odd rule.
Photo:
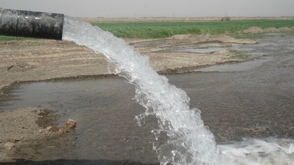
[[[73,17],[294,16],[294,0],[0,0],[0,7]]]

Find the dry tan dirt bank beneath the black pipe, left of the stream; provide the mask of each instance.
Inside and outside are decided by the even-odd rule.
[[[109,73],[102,54],[68,41],[11,41],[0,47],[0,88],[14,81]]]

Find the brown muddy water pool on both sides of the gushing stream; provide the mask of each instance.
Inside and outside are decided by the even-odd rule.
[[[261,55],[240,64],[216,65],[193,74],[168,75],[170,83],[191,98],[190,107],[201,110],[204,123],[218,143],[244,137],[294,138],[293,36],[260,39],[258,45],[233,49]],[[211,72],[217,71],[217,72]],[[78,159],[129,160],[156,163],[150,133],[155,118],[139,127],[134,119],[144,108],[132,100],[134,88],[123,78],[86,79],[23,84],[16,98],[0,107],[14,110],[44,106],[58,110],[59,123],[77,120]]]

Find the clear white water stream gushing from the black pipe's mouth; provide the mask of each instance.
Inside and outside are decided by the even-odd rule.
[[[169,137],[166,144],[154,147],[162,165],[263,165],[256,163],[256,159],[265,160],[258,156],[264,151],[258,152],[255,157],[256,151],[250,150],[252,145],[255,148],[259,146],[254,140],[217,146],[213,134],[201,119],[200,111],[190,109],[187,94],[169,84],[165,76],[157,74],[150,67],[148,57],[137,53],[134,47],[128,46],[122,39],[70,17],[64,20],[63,39],[87,46],[96,53],[103,53],[109,62],[109,71],[125,77],[135,86],[134,99],[146,108],[146,113],[138,119],[147,115],[155,116],[160,129],[154,133],[164,132]],[[249,141],[253,141],[252,144]],[[268,146],[269,143],[264,142],[266,144],[261,145]],[[289,145],[291,148],[292,142],[287,141],[285,147]],[[283,153],[284,156],[293,153],[293,144],[287,152],[278,146],[273,148],[275,150],[272,151]],[[293,163],[293,160],[284,163],[291,165],[286,163]]]

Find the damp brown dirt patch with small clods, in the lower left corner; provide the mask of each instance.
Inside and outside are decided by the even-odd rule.
[[[53,111],[22,108],[0,114],[0,162],[56,160],[70,154],[72,133],[59,133]]]

